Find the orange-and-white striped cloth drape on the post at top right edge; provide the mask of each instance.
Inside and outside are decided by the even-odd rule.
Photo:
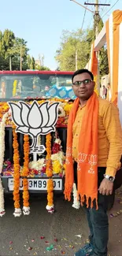
[[[106,21],[106,42],[109,59],[109,77],[112,92],[112,102],[117,102],[118,70],[120,50],[120,23],[122,22],[122,11],[115,10],[109,20]]]

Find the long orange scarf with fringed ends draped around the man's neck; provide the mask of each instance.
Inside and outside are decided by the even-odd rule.
[[[65,170],[65,199],[70,201],[74,183],[74,169],[72,158],[72,126],[79,108],[79,98],[76,98],[68,117],[68,135]],[[93,207],[95,199],[98,209],[98,97],[94,93],[88,99],[84,113],[81,131],[79,133],[77,159],[77,191],[81,205],[85,201]],[[91,204],[89,205],[89,199]]]

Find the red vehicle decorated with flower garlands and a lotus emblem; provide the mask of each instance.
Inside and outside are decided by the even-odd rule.
[[[30,102],[33,99],[40,101],[42,98],[54,98],[49,94],[51,88],[60,90],[62,87],[68,90],[72,87],[73,72],[60,71],[0,71],[0,118],[2,121],[3,114],[8,110],[7,102],[25,101]],[[59,98],[59,95],[58,97]],[[66,103],[68,100],[66,100]],[[64,103],[65,99],[64,99]],[[39,102],[40,104],[40,102]],[[65,121],[64,121],[65,122]],[[62,122],[63,123],[63,122]],[[6,124],[5,135],[5,156],[2,170],[2,184],[5,188],[5,193],[13,191],[13,172],[9,169],[13,165],[13,128],[12,125]],[[62,150],[65,152],[66,145],[66,125],[57,125],[57,132],[61,139]],[[19,142],[20,166],[24,164],[24,135],[17,132]],[[31,140],[31,139],[30,139]],[[52,144],[54,142],[54,134],[52,132]],[[41,143],[45,145],[45,135],[41,135]],[[40,159],[41,157],[39,157]],[[30,161],[33,157],[30,155]],[[7,170],[7,171],[6,171]],[[38,172],[33,176],[28,176],[29,191],[39,193],[46,191],[46,176],[38,176]],[[63,176],[54,175],[54,191],[61,192],[63,190]],[[43,180],[43,181],[42,181]],[[42,184],[40,187],[40,184]],[[20,184],[20,189],[22,184]]]

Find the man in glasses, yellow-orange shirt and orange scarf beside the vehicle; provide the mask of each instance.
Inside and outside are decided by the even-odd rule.
[[[91,232],[90,243],[76,256],[107,256],[107,210],[113,206],[113,181],[122,153],[118,109],[98,98],[94,85],[94,76],[87,69],[79,69],[72,76],[77,98],[68,117],[65,198],[71,199],[75,180]]]

